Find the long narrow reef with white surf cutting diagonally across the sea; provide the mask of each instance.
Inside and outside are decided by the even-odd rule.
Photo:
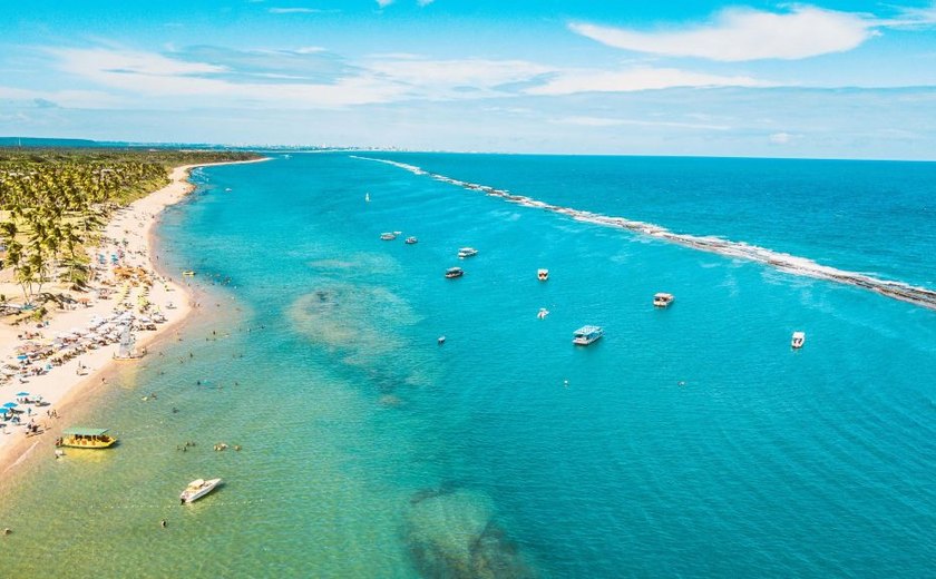
[[[497,189],[487,185],[462,181],[454,179],[451,177],[447,177],[445,175],[430,173],[415,165],[407,165],[406,163],[399,163],[388,159],[377,159],[372,157],[360,157],[357,155],[352,155],[351,157],[361,160],[371,160],[377,163],[384,163],[387,165],[392,165],[394,167],[406,169],[412,173],[413,175],[427,175],[436,180],[448,183],[457,187],[462,187],[468,190],[484,193],[485,195],[489,195],[491,197],[500,197],[506,202],[521,205],[524,207],[533,207],[546,212],[558,213],[579,222],[592,223],[607,227],[618,227],[637,234],[647,235],[657,239],[663,239],[679,245],[684,245],[686,247],[692,247],[694,249],[700,249],[703,252],[710,252],[728,257],[737,257],[740,259],[762,263],[776,267],[777,269],[780,269],[782,272],[787,272],[794,275],[816,277],[819,279],[828,279],[840,284],[852,285],[855,287],[861,287],[871,292],[876,292],[887,297],[909,302],[911,304],[927,307],[929,310],[936,310],[936,291],[926,287],[914,286],[904,282],[880,279],[858,272],[838,269],[836,267],[821,265],[807,257],[798,257],[786,253],[774,252],[766,247],[750,245],[744,242],[732,242],[730,239],[723,239],[714,236],[679,234],[673,233],[660,225],[654,225],[652,223],[636,222],[633,219],[626,219],[624,217],[614,217],[608,215],[602,215],[598,213],[575,209],[572,207],[552,205],[534,199],[533,197],[527,197],[524,195],[514,195],[504,189]]]

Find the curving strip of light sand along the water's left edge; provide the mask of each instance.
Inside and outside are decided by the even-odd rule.
[[[158,215],[167,207],[184,200],[194,189],[195,185],[189,180],[193,169],[201,167],[214,167],[221,165],[242,165],[247,163],[261,163],[269,160],[269,157],[227,163],[211,163],[196,165],[182,165],[174,167],[169,173],[169,184],[149,193],[134,203],[118,209],[110,222],[101,232],[101,245],[94,249],[95,254],[106,255],[115,247],[118,247],[117,239],[121,239],[124,257],[123,266],[140,267],[148,272],[154,279],[152,291],[140,296],[142,287],[129,290],[127,301],[134,295],[137,300],[148,300],[149,304],[164,314],[166,321],[156,326],[155,331],[138,331],[137,349],[152,347],[164,342],[172,335],[173,330],[178,333],[183,323],[188,321],[194,312],[192,306],[193,290],[167,274],[164,265],[159,262],[158,239],[155,234],[155,225],[158,223]],[[94,288],[100,288],[114,278],[113,268],[107,267],[106,279],[96,281]],[[129,284],[127,284],[127,287]],[[115,292],[116,294],[116,292]],[[78,310],[57,311],[49,325],[40,331],[43,335],[51,337],[57,333],[69,331],[69,328],[86,327],[92,316],[106,317],[114,315],[120,306],[121,300],[111,295],[107,298],[99,298],[86,307]],[[172,304],[172,305],[169,305]],[[168,307],[167,307],[168,306]],[[16,347],[20,344],[17,334],[31,331],[30,326],[21,328],[8,327],[0,334],[0,360],[9,359],[14,354]],[[67,416],[71,412],[80,413],[85,406],[87,395],[107,386],[107,379],[115,374],[121,364],[127,366],[136,365],[139,360],[120,362],[114,360],[118,345],[110,344],[96,350],[89,350],[72,360],[69,360],[48,373],[31,376],[26,382],[11,381],[0,386],[0,398],[3,402],[19,399],[16,393],[20,390],[28,391],[30,399],[41,396],[48,405],[33,406],[20,404],[17,410],[23,410],[20,414],[22,425],[7,425],[0,429],[0,483],[9,482],[12,474],[21,468],[32,452],[39,445],[48,444],[50,448],[56,436],[65,425],[74,425],[68,422]],[[144,356],[140,360],[146,360]],[[79,369],[79,363],[84,370]],[[94,396],[91,396],[94,398]],[[58,419],[50,418],[48,413],[55,410]],[[27,414],[29,412],[29,414]],[[31,414],[31,415],[30,415]],[[27,436],[25,424],[35,419],[40,425],[41,433]],[[119,433],[118,433],[119,436]],[[6,484],[4,484],[6,485]]]

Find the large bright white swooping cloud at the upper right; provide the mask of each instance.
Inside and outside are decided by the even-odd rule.
[[[708,26],[644,32],[574,22],[572,31],[604,45],[673,57],[721,61],[794,60],[851,50],[877,32],[861,14],[796,6],[774,13],[727,9]]]

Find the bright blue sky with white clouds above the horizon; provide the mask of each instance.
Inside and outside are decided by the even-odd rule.
[[[0,136],[936,160],[936,1],[8,1]]]

